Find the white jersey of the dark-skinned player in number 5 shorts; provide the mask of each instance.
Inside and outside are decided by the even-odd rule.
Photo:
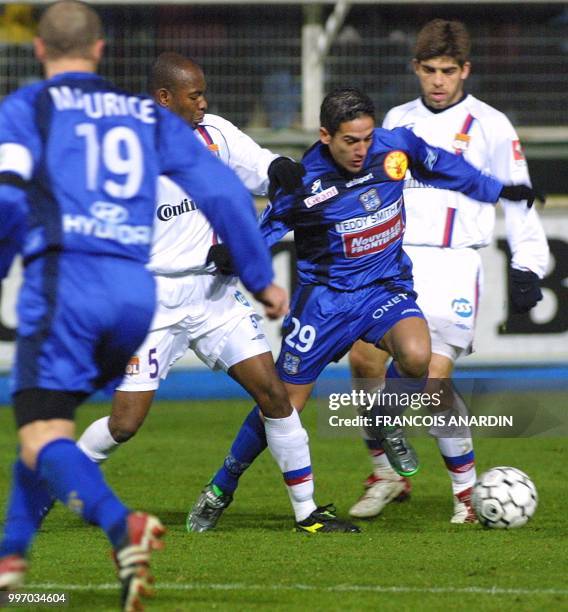
[[[268,166],[278,157],[263,149],[230,121],[205,115],[194,134],[232,168],[249,191],[266,193]],[[158,183],[158,204],[148,268],[154,274],[211,272],[205,260],[217,241],[211,225],[199,211],[199,202],[166,177]]]

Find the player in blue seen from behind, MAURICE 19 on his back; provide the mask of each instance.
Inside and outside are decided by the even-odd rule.
[[[138,610],[152,590],[150,553],[162,547],[164,528],[131,512],[78,449],[74,413],[96,389],[114,388],[150,325],[155,291],[145,264],[158,175],[192,193],[267,312],[285,312],[287,298],[272,284],[252,200],[234,173],[181,119],[95,74],[104,47],[97,14],[57,2],[38,34],[46,80],[0,107],[0,227],[12,224],[16,235],[22,219],[27,225],[13,371],[20,447],[0,590],[23,583],[42,509],[56,498],[104,530],[123,608]],[[18,241],[1,231],[5,270]]]

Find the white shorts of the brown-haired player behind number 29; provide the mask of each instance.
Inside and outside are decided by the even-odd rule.
[[[412,259],[418,305],[430,328],[432,352],[452,361],[473,351],[482,274],[474,249],[405,246]]]

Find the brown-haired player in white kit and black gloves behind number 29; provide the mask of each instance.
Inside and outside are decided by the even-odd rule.
[[[411,128],[427,142],[463,155],[504,183],[528,183],[519,138],[508,118],[464,91],[471,70],[470,46],[461,22],[435,19],[426,24],[418,34],[413,59],[422,95],[392,108],[383,127]],[[460,193],[433,189],[412,178],[405,185],[404,199],[404,250],[413,262],[418,304],[432,337],[429,376],[451,390],[445,408],[463,413],[466,407],[449,379],[456,359],[472,351],[482,281],[478,250],[491,242],[495,211]],[[514,311],[528,312],[542,299],[539,280],[548,262],[547,241],[534,208],[526,210],[503,199],[501,204],[512,252],[510,299]],[[355,344],[350,353],[354,386],[361,385],[361,379],[384,378],[387,358],[370,344]],[[474,522],[471,433],[468,428],[431,433],[451,479],[451,522]],[[372,440],[366,443],[373,472],[363,496],[350,510],[357,518],[376,516],[387,503],[402,500],[410,492],[409,481],[394,472],[380,445]]]

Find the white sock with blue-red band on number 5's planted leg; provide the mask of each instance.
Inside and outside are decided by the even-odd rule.
[[[284,476],[296,521],[303,521],[316,509],[308,432],[296,410],[284,419],[265,417],[264,428],[268,448]]]

